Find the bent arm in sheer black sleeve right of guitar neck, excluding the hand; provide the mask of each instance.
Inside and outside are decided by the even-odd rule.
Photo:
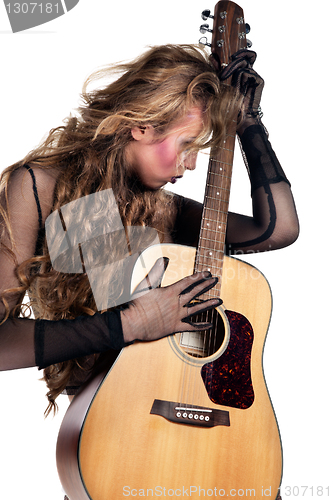
[[[246,116],[237,133],[251,182],[253,216],[229,215],[227,250],[248,253],[288,246],[298,237],[298,217],[268,133],[257,114]]]

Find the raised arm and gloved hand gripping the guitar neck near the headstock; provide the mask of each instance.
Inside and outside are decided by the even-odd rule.
[[[253,70],[256,54],[241,50],[222,69],[222,81],[231,80],[243,96],[242,119],[237,134],[247,166],[252,195],[252,216],[230,213],[226,234],[227,253],[252,253],[283,248],[299,233],[290,183],[269,142],[260,116],[263,79]],[[229,81],[230,81],[229,80]],[[175,240],[197,246],[202,206],[193,200],[181,203]]]

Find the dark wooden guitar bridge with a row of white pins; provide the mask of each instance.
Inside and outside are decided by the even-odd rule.
[[[155,399],[150,410],[152,415],[160,415],[170,422],[198,425],[200,427],[230,426],[229,412]]]

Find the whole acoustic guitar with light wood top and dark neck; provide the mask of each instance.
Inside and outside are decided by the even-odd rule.
[[[213,54],[224,64],[244,47],[242,9],[218,2]],[[74,398],[57,444],[71,500],[277,497],[281,443],[262,368],[270,288],[257,269],[224,255],[235,135],[234,126],[209,161],[198,248],[145,251],[151,266],[161,248],[170,259],[162,286],[193,270],[220,277],[204,297],[223,299],[204,319],[214,328],[128,346]]]

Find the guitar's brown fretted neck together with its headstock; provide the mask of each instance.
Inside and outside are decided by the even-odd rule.
[[[207,19],[208,14],[203,17]],[[204,14],[204,13],[203,13]],[[243,10],[229,0],[220,0],[214,11],[212,54],[220,65],[231,61],[231,56],[247,46]],[[209,31],[202,25],[201,32]],[[203,42],[205,43],[205,42]],[[230,80],[230,79],[229,79]],[[230,81],[225,81],[230,85]],[[226,139],[220,148],[211,152],[209,160],[203,217],[194,271],[209,270],[222,281],[223,259],[227,231],[227,219],[231,186],[232,164],[236,138],[236,123],[228,128]],[[202,298],[219,297],[220,289],[214,287]]]

